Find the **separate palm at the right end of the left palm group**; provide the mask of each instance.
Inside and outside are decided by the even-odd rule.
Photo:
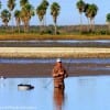
[[[57,2],[53,2],[51,6],[51,14],[53,16],[54,26],[55,26],[55,34],[57,33],[57,16],[59,15],[61,6]]]

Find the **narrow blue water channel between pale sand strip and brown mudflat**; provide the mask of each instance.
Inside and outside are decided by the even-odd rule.
[[[63,58],[63,63],[90,63],[90,64],[110,64],[110,58]],[[0,64],[35,64],[35,63],[55,63],[56,58],[0,58]]]

